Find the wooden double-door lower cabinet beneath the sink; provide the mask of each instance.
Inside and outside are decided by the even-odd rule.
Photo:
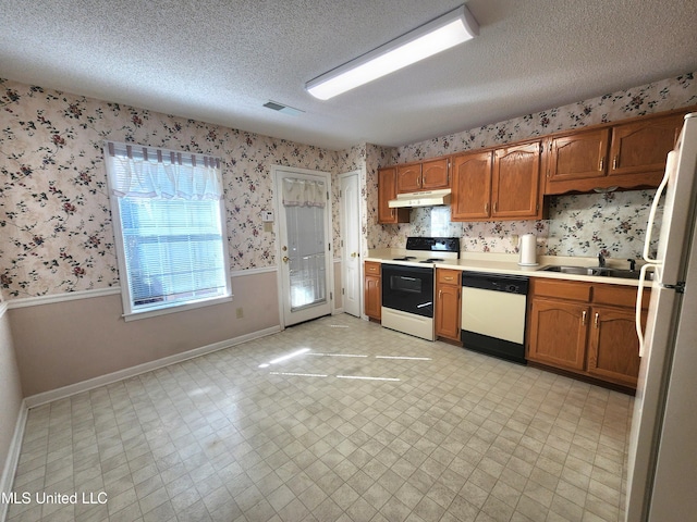
[[[639,348],[636,287],[533,278],[527,359],[547,366],[636,387]],[[643,307],[648,307],[649,290]],[[646,321],[646,316],[645,316]]]

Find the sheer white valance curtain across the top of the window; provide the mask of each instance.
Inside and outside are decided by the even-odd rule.
[[[124,198],[220,200],[220,159],[109,141],[111,190]]]

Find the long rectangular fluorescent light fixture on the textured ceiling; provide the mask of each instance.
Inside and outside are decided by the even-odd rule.
[[[461,5],[305,85],[315,98],[328,100],[355,87],[432,57],[479,34],[479,24]]]

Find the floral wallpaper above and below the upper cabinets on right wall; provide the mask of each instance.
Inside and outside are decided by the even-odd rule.
[[[407,163],[464,150],[501,145],[543,136],[558,130],[614,122],[681,107],[697,104],[695,73],[655,82],[590,100],[527,114],[463,133],[390,149],[380,165]],[[369,172],[371,175],[376,173]],[[368,178],[368,186],[375,183]],[[638,258],[646,235],[648,209],[655,191],[632,190],[598,195],[558,196],[549,200],[549,219],[452,223],[443,231],[460,236],[462,249],[476,252],[516,253],[512,235],[538,236],[538,252],[549,256],[596,256]],[[377,197],[375,198],[377,207]],[[449,209],[413,209],[411,223],[377,224],[377,210],[370,208],[370,248],[403,248],[407,236],[436,235],[443,212]]]

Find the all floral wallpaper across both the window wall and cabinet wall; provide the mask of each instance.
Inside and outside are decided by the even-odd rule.
[[[694,74],[528,114],[400,148],[362,144],[330,151],[0,78],[0,290],[16,299],[119,284],[102,144],[137,142],[217,156],[223,163],[232,270],[276,266],[264,232],[273,204],[273,165],[358,171],[364,251],[403,247],[409,235],[462,237],[464,250],[515,252],[510,236],[534,232],[541,253],[636,257],[650,191],[555,197],[549,220],[450,223],[449,209],[415,209],[412,222],[377,224],[377,170],[554,130],[697,104]],[[332,236],[341,239],[339,183]],[[334,251],[334,257],[339,256]]]

